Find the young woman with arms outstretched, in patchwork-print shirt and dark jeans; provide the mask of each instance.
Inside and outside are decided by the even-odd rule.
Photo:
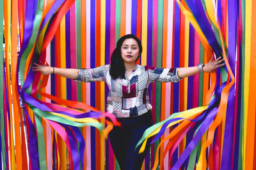
[[[121,127],[113,127],[109,133],[111,146],[122,170],[141,169],[149,150],[149,146],[141,154],[138,153],[140,147],[135,150],[143,132],[152,125],[148,85],[154,81],[177,82],[203,71],[212,73],[224,65],[219,57],[194,67],[164,69],[141,66],[136,64],[141,52],[140,40],[128,34],[118,40],[110,65],[94,69],[64,69],[35,63],[33,67],[33,71],[42,74],[58,74],[77,81],[106,81],[109,87],[107,111],[113,113],[122,124]]]

